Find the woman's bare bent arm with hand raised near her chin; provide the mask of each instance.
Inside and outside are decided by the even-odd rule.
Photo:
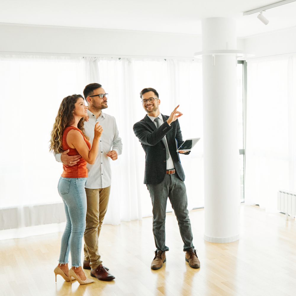
[[[78,151],[79,155],[81,155],[81,157],[86,160],[86,162],[94,164],[96,156],[98,154],[99,139],[102,135],[102,132],[102,126],[99,126],[99,123],[97,122],[94,127],[94,140],[90,150],[89,147],[87,147],[82,134],[77,130],[70,130],[67,134],[66,141],[68,146],[71,148],[75,148]]]

